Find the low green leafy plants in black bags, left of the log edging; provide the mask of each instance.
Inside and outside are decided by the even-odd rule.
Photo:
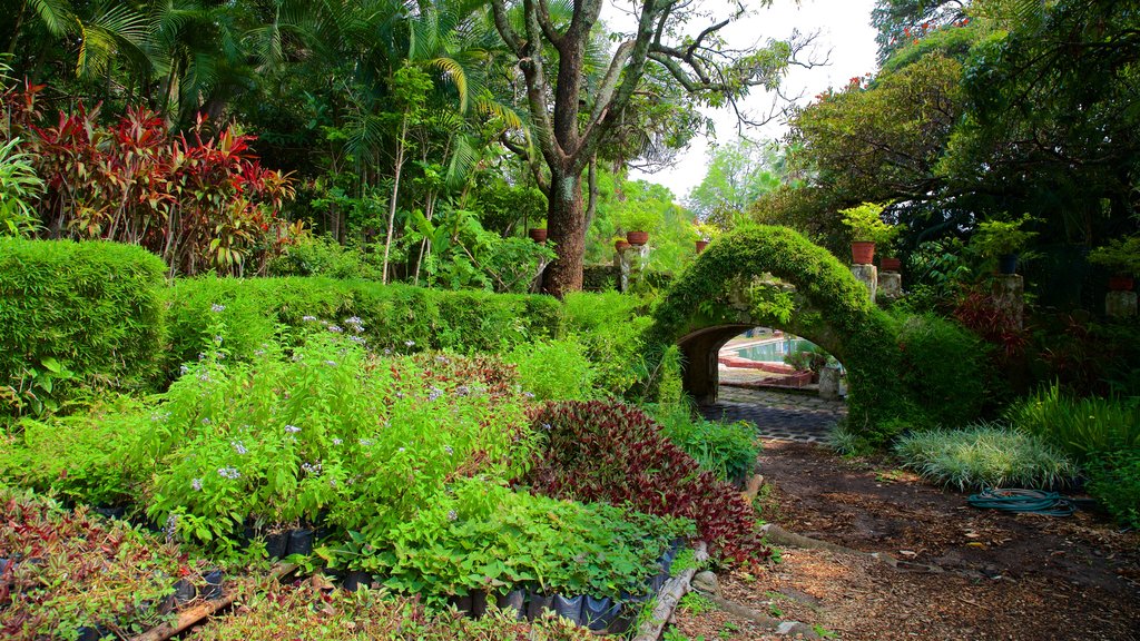
[[[515,493],[471,478],[456,481],[383,539],[356,538],[325,553],[336,565],[378,574],[399,593],[422,593],[427,602],[520,587],[617,599],[644,593],[670,541],[691,533],[689,521]]]

